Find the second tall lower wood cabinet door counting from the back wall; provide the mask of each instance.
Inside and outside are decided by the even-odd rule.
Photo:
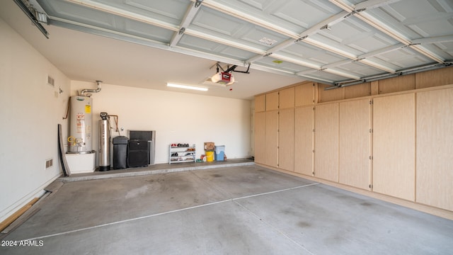
[[[278,166],[278,111],[266,112],[265,164]]]

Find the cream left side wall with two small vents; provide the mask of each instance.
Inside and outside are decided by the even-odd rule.
[[[1,18],[0,34],[1,222],[61,174],[57,124],[67,129],[62,116],[70,81]],[[49,169],[46,159],[53,159]]]

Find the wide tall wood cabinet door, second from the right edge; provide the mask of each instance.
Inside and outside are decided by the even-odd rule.
[[[374,98],[373,191],[415,199],[415,95]]]

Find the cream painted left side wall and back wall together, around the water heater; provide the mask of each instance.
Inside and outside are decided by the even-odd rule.
[[[95,89],[95,82],[70,81],[0,18],[0,222],[57,179],[57,124],[68,136],[70,94]],[[47,84],[47,75],[55,87]],[[93,94],[93,149],[98,148],[101,111],[120,116],[127,130],[156,130],[156,163],[166,163],[168,145],[203,142],[226,146],[229,159],[250,153],[251,102],[103,84]],[[59,89],[64,91],[59,94]],[[117,133],[113,133],[116,136]],[[45,160],[53,166],[45,169]]]

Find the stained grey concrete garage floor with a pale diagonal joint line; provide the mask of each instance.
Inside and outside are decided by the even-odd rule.
[[[0,246],[0,254],[453,251],[452,220],[253,164],[66,180],[1,242],[42,246]]]

